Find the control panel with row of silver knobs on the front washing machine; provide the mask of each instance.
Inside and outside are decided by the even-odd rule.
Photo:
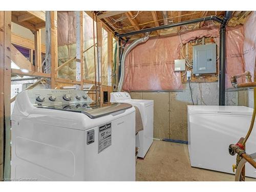
[[[55,105],[87,103],[93,100],[82,90],[28,90],[28,97],[33,105]]]

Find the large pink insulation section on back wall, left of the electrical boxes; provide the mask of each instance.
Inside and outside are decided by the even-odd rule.
[[[182,89],[180,73],[174,72],[179,44],[178,36],[169,36],[150,38],[135,47],[126,58],[123,90]]]

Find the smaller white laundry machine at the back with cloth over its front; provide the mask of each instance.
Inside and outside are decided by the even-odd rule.
[[[139,147],[138,157],[144,158],[153,142],[154,100],[132,99],[126,92],[113,92],[110,94],[112,103],[129,103],[140,111],[143,130],[136,135],[136,146]]]

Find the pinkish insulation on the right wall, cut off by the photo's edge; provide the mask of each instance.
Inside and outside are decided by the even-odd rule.
[[[252,79],[254,76],[254,63],[256,57],[256,11],[253,11],[244,24],[244,47],[243,56],[245,62],[245,71],[250,71]]]

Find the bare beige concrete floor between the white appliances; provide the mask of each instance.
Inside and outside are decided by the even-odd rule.
[[[137,161],[136,180],[234,181],[234,175],[191,167],[186,144],[154,140],[144,160]],[[246,181],[256,180],[246,178]]]

